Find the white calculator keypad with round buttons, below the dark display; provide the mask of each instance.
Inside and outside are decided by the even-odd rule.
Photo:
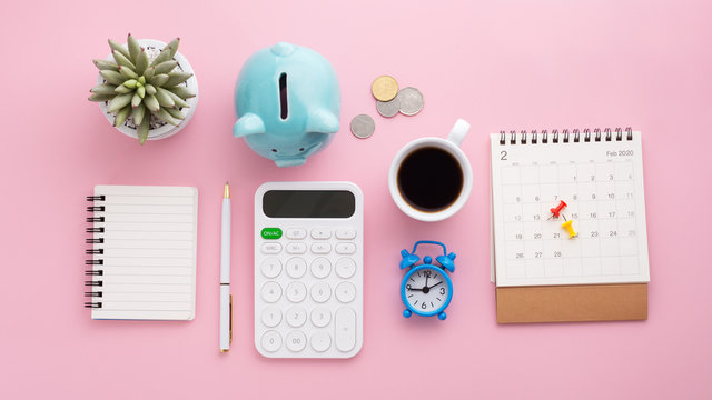
[[[359,232],[348,226],[281,229],[283,238],[258,238],[256,246],[261,252],[256,282],[267,303],[256,318],[256,342],[264,352],[291,354],[284,357],[354,350],[363,307],[356,282]]]

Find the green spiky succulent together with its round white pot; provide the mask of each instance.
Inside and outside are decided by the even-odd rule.
[[[137,40],[129,33],[126,47],[109,39],[111,54],[93,60],[99,78],[89,100],[99,102],[107,119],[141,144],[176,134],[198,103],[198,82],[178,52],[179,42]]]

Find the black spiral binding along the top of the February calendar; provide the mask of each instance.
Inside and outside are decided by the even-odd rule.
[[[574,143],[578,143],[582,141],[582,139],[583,139],[583,142],[590,142],[592,141],[592,139],[593,141],[596,141],[596,142],[614,141],[614,140],[622,141],[624,132],[625,132],[625,140],[633,140],[633,129],[631,127],[627,127],[625,129],[615,128],[614,130],[612,130],[611,128],[605,128],[603,129],[603,131],[600,128],[595,128],[593,130],[593,133],[591,132],[591,129],[584,129],[583,133],[578,129],[574,129],[571,132],[568,131],[568,129],[564,129],[561,132],[561,141],[563,143],[568,143],[570,141],[573,141]],[[501,130],[500,144],[504,146],[507,143],[507,134],[510,136],[508,143],[516,144],[517,132],[515,130],[511,130],[508,133],[504,130]],[[541,132],[537,132],[536,130],[532,130],[532,131],[521,130],[518,134],[520,134],[518,142],[521,144],[527,144],[527,137],[528,137],[528,144],[536,144],[540,142],[538,140],[540,136],[541,136],[542,143],[544,144],[548,143],[550,132],[546,129],[542,130]],[[552,137],[551,139],[552,143],[558,143],[560,142],[558,129],[553,129],[551,131],[551,137]]]

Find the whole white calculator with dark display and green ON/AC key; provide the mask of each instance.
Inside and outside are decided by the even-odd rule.
[[[268,182],[255,193],[255,347],[350,358],[364,321],[364,196],[350,182]]]

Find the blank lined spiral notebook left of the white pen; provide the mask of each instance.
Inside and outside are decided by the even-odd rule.
[[[86,261],[92,319],[191,320],[198,190],[96,186]]]

